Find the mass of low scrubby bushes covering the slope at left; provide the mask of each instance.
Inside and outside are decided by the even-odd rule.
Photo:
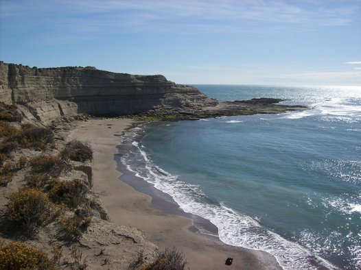
[[[23,179],[26,186],[4,198],[7,204],[0,210],[0,236],[14,241],[43,238],[51,231],[51,241],[78,241],[93,219],[86,197],[90,191],[83,180],[65,180],[65,172],[71,169],[69,160],[93,160],[93,149],[89,143],[72,140],[60,154],[45,154],[58,153],[53,131],[21,124],[21,119],[16,106],[0,102],[0,186],[8,185],[14,176],[16,184],[23,184],[17,181]],[[30,150],[23,151],[25,148]],[[42,154],[28,158],[39,150]],[[52,228],[59,234],[54,234]],[[21,242],[0,241],[0,269],[58,269],[62,252],[55,248],[53,255],[50,258]],[[71,258],[73,261],[64,259],[62,265],[71,269],[88,267],[75,245]]]

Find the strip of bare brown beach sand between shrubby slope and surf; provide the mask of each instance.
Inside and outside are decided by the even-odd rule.
[[[69,133],[69,138],[88,141],[94,149],[94,191],[101,194],[113,223],[143,230],[160,249],[176,247],[185,254],[189,269],[281,269],[266,252],[232,247],[217,237],[200,234],[191,219],[156,208],[152,197],[121,181],[116,145],[134,123],[130,119],[92,119],[75,123]],[[231,266],[224,264],[228,257],[234,258]]]

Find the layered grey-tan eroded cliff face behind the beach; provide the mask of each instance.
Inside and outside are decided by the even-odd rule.
[[[130,75],[94,67],[30,68],[0,62],[0,100],[27,118],[50,123],[76,114],[130,115],[154,109],[198,110],[217,101],[163,75]]]

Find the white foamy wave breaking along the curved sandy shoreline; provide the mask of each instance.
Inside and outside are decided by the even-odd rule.
[[[128,133],[124,136],[124,141],[127,140],[126,137],[135,138],[136,132],[130,130]],[[317,269],[313,263],[315,260],[330,269],[335,268],[301,245],[266,230],[255,219],[212,201],[202,192],[200,186],[187,184],[177,175],[172,175],[156,166],[150,156],[143,151],[141,143],[130,141],[128,140],[128,146],[132,148],[124,152],[121,162],[138,177],[171,195],[185,212],[211,221],[218,227],[222,242],[237,247],[267,251],[277,258],[283,269]]]

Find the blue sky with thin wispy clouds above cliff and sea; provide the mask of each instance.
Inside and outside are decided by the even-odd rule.
[[[179,84],[361,86],[361,0],[0,0],[0,60]]]

